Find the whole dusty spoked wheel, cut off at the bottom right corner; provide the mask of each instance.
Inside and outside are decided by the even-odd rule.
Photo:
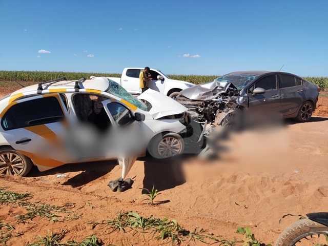
[[[328,228],[323,224],[310,219],[302,219],[283,230],[275,246],[327,245],[327,235]]]

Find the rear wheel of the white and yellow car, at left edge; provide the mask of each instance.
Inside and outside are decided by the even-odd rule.
[[[0,149],[0,174],[26,176],[32,169],[32,160],[11,147]]]

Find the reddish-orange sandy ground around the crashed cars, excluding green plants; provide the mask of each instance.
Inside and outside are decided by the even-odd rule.
[[[80,218],[52,222],[35,218],[27,224],[16,224],[13,217],[25,212],[14,206],[0,206],[0,220],[16,224],[24,232],[7,245],[24,245],[47,230],[67,229],[64,240],[81,240],[96,234],[106,245],[158,245],[163,241],[132,232],[111,232],[89,221],[112,219],[119,211],[134,211],[176,219],[188,230],[203,228],[221,238],[242,238],[237,227],[250,227],[256,238],[274,243],[280,232],[295,217],[328,211],[328,94],[322,93],[311,122],[300,124],[286,120],[274,130],[247,131],[222,142],[218,158],[204,161],[182,156],[157,161],[149,157],[137,160],[129,177],[132,189],[113,193],[109,180],[120,176],[116,161],[65,165],[46,172],[32,169],[28,177],[0,176],[0,187],[14,192],[31,192],[32,201],[62,205],[74,202]],[[57,178],[58,174],[66,177]],[[151,206],[140,200],[140,188],[160,191],[160,204]],[[193,242],[186,243],[193,245]],[[198,245],[202,243],[197,242]]]

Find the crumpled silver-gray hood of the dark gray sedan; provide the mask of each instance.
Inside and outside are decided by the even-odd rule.
[[[182,96],[192,100],[211,100],[226,92],[229,87],[237,89],[232,83],[212,81],[180,91]]]

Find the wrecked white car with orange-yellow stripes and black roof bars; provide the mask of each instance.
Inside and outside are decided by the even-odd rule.
[[[0,109],[0,174],[184,149],[187,108],[150,89],[137,99],[106,77],[25,87],[2,98]]]

